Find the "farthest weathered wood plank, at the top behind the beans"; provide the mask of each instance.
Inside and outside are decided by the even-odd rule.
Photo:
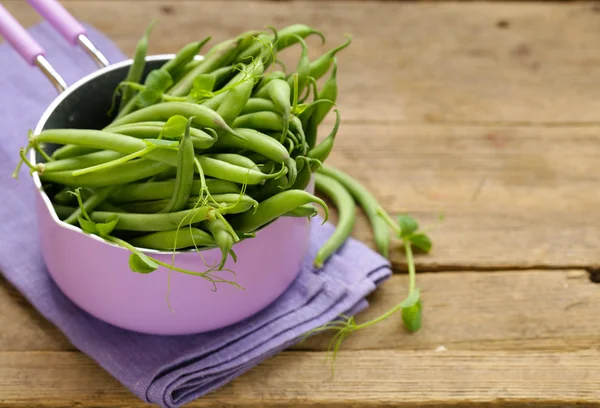
[[[24,24],[39,21],[25,2],[4,3]],[[600,13],[593,3],[63,3],[128,55],[155,17],[150,51],[157,53],[268,24],[312,24],[328,46],[350,33],[354,42],[340,54],[338,74],[348,121],[600,122]],[[362,23],[365,16],[377,23]],[[318,52],[318,41],[310,44]]]

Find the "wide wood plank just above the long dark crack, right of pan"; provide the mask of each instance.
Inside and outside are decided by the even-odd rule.
[[[599,146],[600,127],[343,125],[327,163],[392,214],[444,213],[421,269],[586,268],[600,259]],[[364,217],[354,236],[372,245]]]

